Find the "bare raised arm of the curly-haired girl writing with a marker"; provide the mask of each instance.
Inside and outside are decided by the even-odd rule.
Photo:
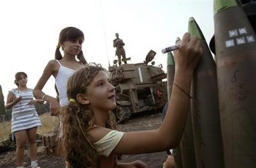
[[[162,125],[157,130],[126,132],[112,153],[132,155],[154,153],[174,149],[182,137],[188,107],[190,104],[190,85],[193,72],[201,59],[203,50],[196,36],[185,33],[180,42],[180,49],[174,52],[176,74],[168,106],[168,112]],[[93,141],[101,139],[109,130],[97,128],[90,131]]]

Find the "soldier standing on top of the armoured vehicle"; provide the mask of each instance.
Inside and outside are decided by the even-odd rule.
[[[113,47],[116,47],[116,55],[118,56],[118,65],[121,65],[121,55],[123,57],[123,61],[125,64],[127,64],[126,62],[126,51],[124,50],[124,42],[122,39],[119,38],[119,34],[116,33],[116,39],[113,40]],[[115,55],[115,56],[116,56]]]

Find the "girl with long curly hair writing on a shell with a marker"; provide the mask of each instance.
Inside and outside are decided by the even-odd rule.
[[[116,108],[115,87],[101,65],[89,64],[68,80],[68,106],[61,109],[61,155],[66,167],[148,167],[145,163],[118,163],[117,155],[156,153],[178,146],[190,103],[193,71],[202,55],[196,36],[185,33],[174,52],[174,87],[163,123],[157,130],[120,132],[111,110]]]

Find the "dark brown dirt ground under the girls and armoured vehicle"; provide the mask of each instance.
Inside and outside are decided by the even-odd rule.
[[[124,132],[136,130],[152,130],[159,128],[161,125],[161,112],[143,112],[134,114],[124,124],[118,124],[118,129]],[[149,146],[150,147],[150,146]],[[120,162],[128,163],[136,160],[143,161],[152,168],[162,168],[162,164],[167,157],[165,151],[161,153],[149,153],[141,155],[122,155]],[[44,147],[38,147],[37,159],[41,168],[65,168],[63,160],[59,157],[45,155]],[[29,167],[30,159],[28,150],[25,151],[24,167]],[[15,151],[8,151],[0,155],[0,167],[12,168],[16,167]]]

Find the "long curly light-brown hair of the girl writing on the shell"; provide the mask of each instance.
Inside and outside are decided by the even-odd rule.
[[[90,63],[79,69],[68,80],[68,99],[75,99],[61,109],[63,136],[59,139],[59,153],[66,160],[67,167],[99,167],[99,156],[88,130],[95,126],[93,110],[76,101],[78,93],[86,93],[87,87],[99,71],[101,65]],[[113,113],[109,111],[106,127],[116,129]]]

